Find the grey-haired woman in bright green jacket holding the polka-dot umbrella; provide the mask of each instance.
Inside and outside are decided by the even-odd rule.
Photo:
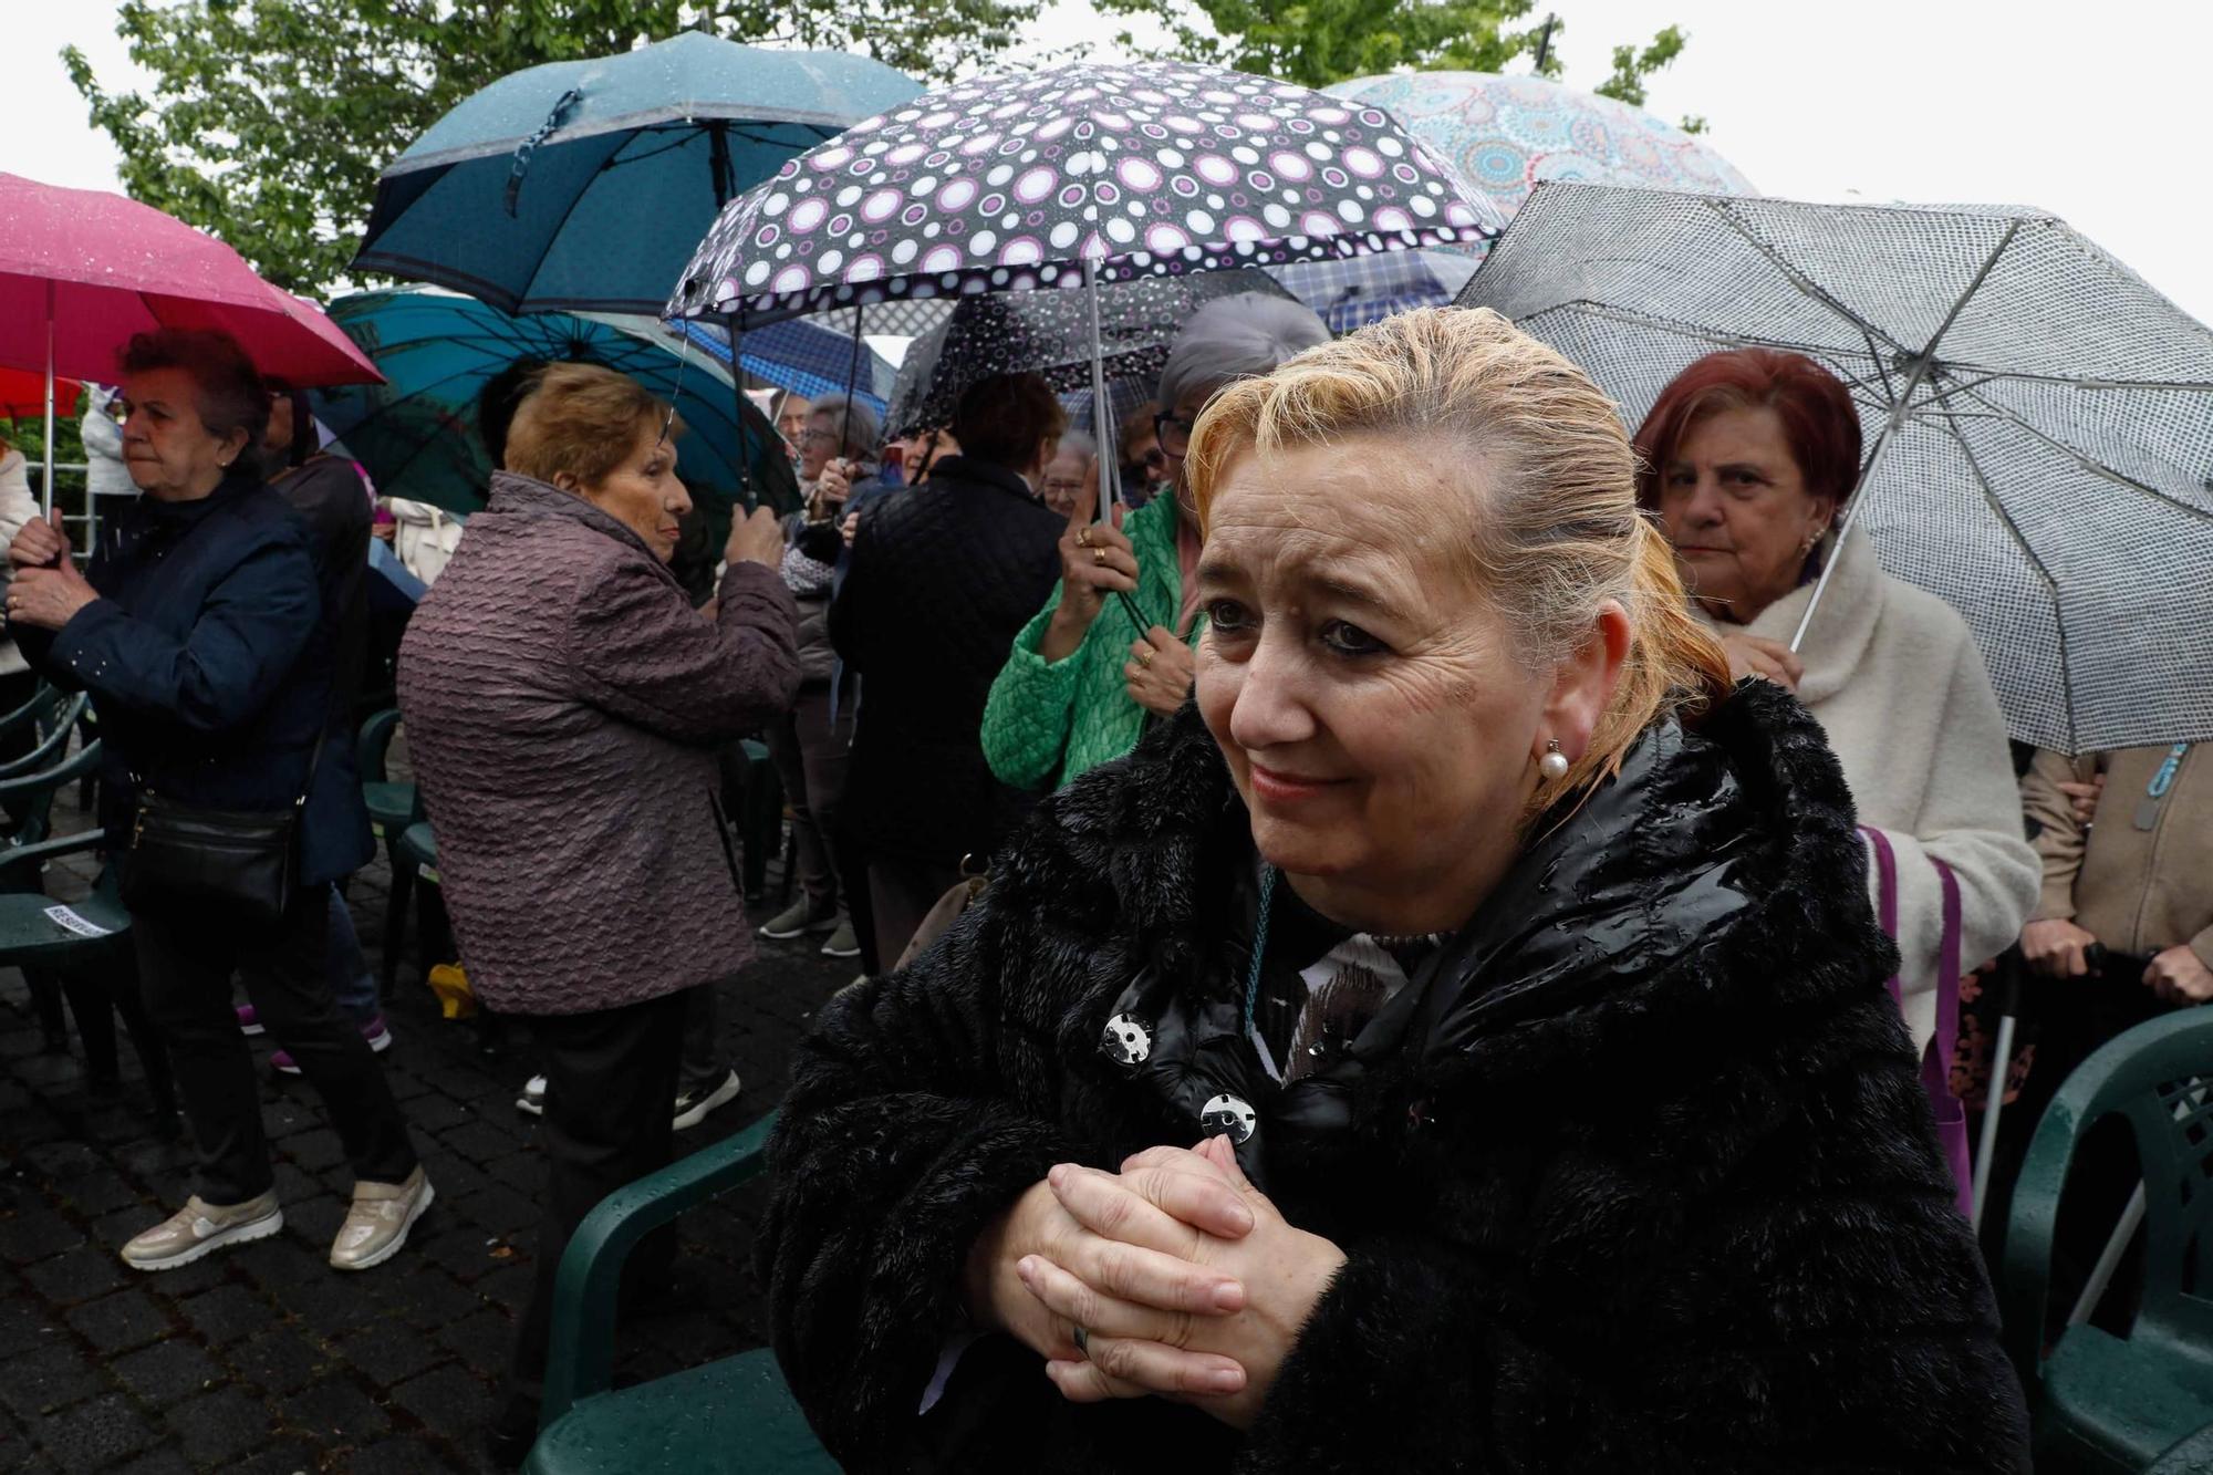
[[[1095,523],[1098,478],[1060,538],[1060,587],[1014,638],[983,713],[991,773],[1014,788],[1056,788],[1122,757],[1144,724],[1191,695],[1199,534],[1184,505],[1184,447],[1199,410],[1224,385],[1270,374],[1330,330],[1312,310],[1259,292],[1199,308],[1160,370],[1155,416],[1175,496]],[[1115,596],[1126,596],[1115,598]],[[1135,605],[1135,618],[1131,613]],[[1140,627],[1142,620],[1142,627]]]

